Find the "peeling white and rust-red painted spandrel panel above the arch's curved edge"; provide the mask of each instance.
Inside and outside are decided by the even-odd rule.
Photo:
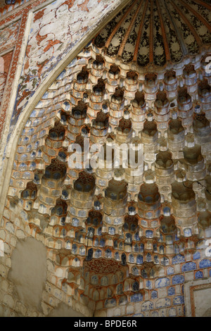
[[[114,2],[115,0],[109,1],[109,4],[108,1],[99,0],[56,0],[34,13],[11,120],[12,128],[41,82],[58,61],[102,20],[105,11],[110,11]]]

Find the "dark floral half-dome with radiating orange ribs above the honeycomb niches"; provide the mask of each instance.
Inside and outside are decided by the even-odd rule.
[[[94,44],[134,68],[163,67],[210,45],[210,22],[208,1],[136,0],[104,27]]]

